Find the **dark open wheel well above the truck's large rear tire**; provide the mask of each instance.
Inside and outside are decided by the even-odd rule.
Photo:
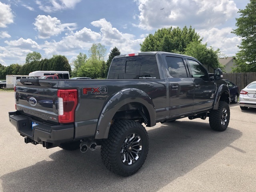
[[[132,102],[123,105],[116,114],[113,120],[130,119],[144,124],[150,124],[150,115],[148,109],[141,103]]]

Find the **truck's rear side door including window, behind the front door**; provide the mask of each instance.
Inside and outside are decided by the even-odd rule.
[[[170,99],[170,116],[176,117],[190,113],[193,110],[193,96],[187,95],[193,91],[194,82],[189,77],[185,58],[178,55],[163,55],[167,66],[168,94]]]

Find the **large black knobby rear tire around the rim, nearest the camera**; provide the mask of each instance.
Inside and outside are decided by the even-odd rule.
[[[134,170],[125,171],[120,168],[118,165],[118,158],[119,156],[116,156],[116,152],[120,150],[118,147],[120,142],[122,141],[122,136],[126,134],[126,132],[136,127],[137,129],[140,129],[143,131],[143,133],[146,136],[146,146],[143,146],[145,148],[144,150],[144,159],[141,161],[141,163],[136,167]],[[136,173],[144,164],[147,154],[148,154],[148,147],[149,147],[149,139],[148,139],[148,133],[144,126],[142,126],[140,123],[132,121],[132,120],[118,120],[115,121],[114,124],[110,127],[110,131],[108,134],[108,139],[102,140],[102,146],[100,149],[101,152],[101,159],[104,165],[108,170],[111,172],[114,172],[115,174],[118,174],[120,176],[130,176],[134,173]],[[140,154],[140,158],[143,158],[143,154]]]

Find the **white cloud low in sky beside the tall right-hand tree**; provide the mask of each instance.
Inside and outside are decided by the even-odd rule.
[[[199,34],[203,37],[203,42],[207,42],[208,46],[214,47],[214,50],[220,48],[220,51],[226,56],[234,56],[241,43],[241,38],[231,34],[232,28],[212,28],[207,31],[200,31]]]

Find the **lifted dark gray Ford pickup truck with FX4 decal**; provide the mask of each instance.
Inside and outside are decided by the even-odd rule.
[[[116,56],[107,80],[19,79],[10,122],[26,143],[81,152],[101,146],[108,170],[129,176],[144,164],[147,127],[188,117],[216,131],[230,120],[222,71],[168,52]]]

